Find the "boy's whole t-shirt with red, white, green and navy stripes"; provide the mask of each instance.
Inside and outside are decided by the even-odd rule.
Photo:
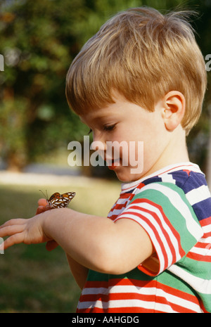
[[[211,312],[211,198],[198,165],[123,184],[108,218],[140,224],[155,255],[127,274],[90,270],[77,312]]]

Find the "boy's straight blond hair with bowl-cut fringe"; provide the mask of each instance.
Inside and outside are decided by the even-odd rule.
[[[113,103],[113,90],[153,111],[169,91],[186,98],[181,126],[190,131],[203,105],[207,76],[186,12],[148,8],[117,13],[91,37],[68,70],[66,96],[78,114]]]

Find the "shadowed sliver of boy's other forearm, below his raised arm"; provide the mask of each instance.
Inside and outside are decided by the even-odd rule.
[[[68,264],[70,266],[70,270],[72,272],[73,277],[75,278],[75,281],[79,288],[84,288],[84,284],[87,281],[87,274],[89,269],[86,267],[82,266],[82,264],[79,264],[77,261],[72,259],[70,255],[66,253],[67,259],[68,259]]]

